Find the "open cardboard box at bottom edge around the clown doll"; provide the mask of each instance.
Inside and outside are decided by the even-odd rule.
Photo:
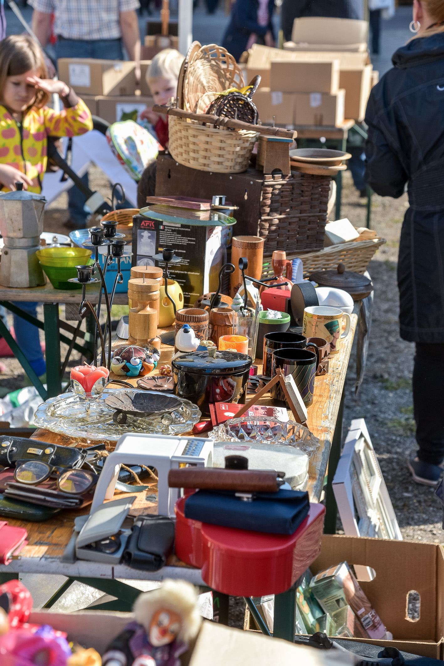
[[[132,613],[105,611],[77,611],[53,613],[34,611],[29,622],[49,624],[54,629],[65,631],[70,640],[94,647],[101,655],[111,640],[134,620]],[[195,641],[180,655],[182,666],[269,666],[304,663],[304,666],[351,666],[353,661],[346,655],[340,660],[335,655],[318,654],[305,645],[292,645],[288,641],[271,639],[263,635],[247,633],[240,629],[224,627],[205,621]]]

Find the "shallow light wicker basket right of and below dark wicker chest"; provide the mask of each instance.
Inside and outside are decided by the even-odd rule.
[[[345,270],[355,273],[363,273],[371,262],[373,255],[385,244],[385,238],[374,240],[354,240],[349,243],[332,245],[319,252],[308,252],[307,254],[287,254],[292,260],[296,256],[302,259],[304,264],[304,277],[308,277],[316,270],[335,270],[337,264],[345,264]],[[282,247],[284,249],[284,246]],[[270,278],[274,275],[271,262],[264,262],[262,278]]]

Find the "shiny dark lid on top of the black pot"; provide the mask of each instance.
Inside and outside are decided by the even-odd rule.
[[[172,360],[176,370],[185,370],[194,374],[236,374],[250,370],[252,358],[228,350],[208,356],[208,352],[190,352]]]

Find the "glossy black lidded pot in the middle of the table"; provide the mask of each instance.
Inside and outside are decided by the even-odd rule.
[[[252,358],[246,354],[218,351],[180,354],[171,362],[174,394],[194,402],[209,416],[210,404],[245,402]]]

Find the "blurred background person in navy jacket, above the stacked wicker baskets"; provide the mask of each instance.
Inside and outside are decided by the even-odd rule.
[[[265,13],[266,22],[260,21],[259,10]],[[224,49],[239,60],[254,42],[274,46],[273,11],[274,0],[236,0],[222,41]],[[256,35],[256,39],[250,39],[252,35]]]

